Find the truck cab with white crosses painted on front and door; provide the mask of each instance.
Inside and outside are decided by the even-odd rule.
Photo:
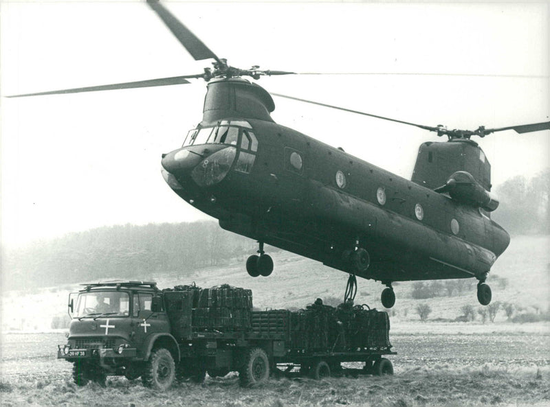
[[[162,344],[173,360],[179,360],[156,283],[85,284],[69,296],[69,315],[67,344],[58,345],[57,357],[74,364],[76,384],[104,384],[107,375],[135,379],[143,374],[155,345]]]

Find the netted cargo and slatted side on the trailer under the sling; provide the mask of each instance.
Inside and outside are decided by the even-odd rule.
[[[252,312],[252,331],[259,334],[285,332],[294,350],[388,351],[390,320],[387,312],[347,301],[331,307],[320,299],[305,310]]]

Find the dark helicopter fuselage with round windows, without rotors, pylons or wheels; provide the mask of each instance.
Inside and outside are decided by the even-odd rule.
[[[485,280],[509,244],[479,208],[273,121],[226,117],[195,133],[162,161],[181,198],[223,229],[332,268],[351,272],[349,253],[365,248],[360,277]]]

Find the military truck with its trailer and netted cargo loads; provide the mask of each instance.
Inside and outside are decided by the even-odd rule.
[[[73,364],[73,379],[104,386],[107,375],[142,377],[164,391],[175,380],[201,382],[206,373],[239,373],[241,384],[270,374],[320,378],[346,372],[393,374],[386,312],[345,303],[305,310],[252,310],[252,291],[194,284],[159,290],[152,281],[86,284],[69,295],[67,344],[58,359]]]

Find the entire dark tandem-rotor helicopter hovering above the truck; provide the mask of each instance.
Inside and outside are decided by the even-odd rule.
[[[162,176],[175,194],[217,218],[228,231],[259,242],[246,261],[252,277],[274,270],[265,244],[321,261],[356,277],[380,281],[382,305],[395,304],[394,281],[478,279],[477,297],[490,303],[485,283],[507,248],[508,233],[491,220],[491,166],[472,140],[494,132],[550,130],[550,121],[502,128],[448,130],[372,115],[276,93],[255,82],[288,71],[239,69],[219,58],[159,1],[148,5],[195,60],[214,60],[202,73],[11,97],[148,86],[207,84],[201,122],[181,148],[162,154]],[[446,141],[422,143],[412,179],[382,170],[302,133],[276,124],[272,95],[415,126]]]

